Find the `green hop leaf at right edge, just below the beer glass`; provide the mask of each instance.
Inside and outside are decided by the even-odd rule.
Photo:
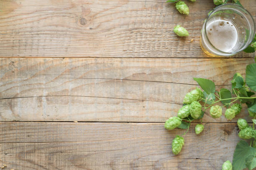
[[[246,66],[246,83],[251,90],[256,91],[256,63]]]

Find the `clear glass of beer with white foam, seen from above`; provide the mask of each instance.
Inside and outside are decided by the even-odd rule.
[[[220,5],[205,20],[200,45],[207,55],[235,55],[250,45],[254,30],[253,18],[243,7],[235,4]]]

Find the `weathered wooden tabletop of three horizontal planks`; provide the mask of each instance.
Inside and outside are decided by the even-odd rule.
[[[230,88],[254,57],[205,55],[200,29],[214,5],[186,2],[188,16],[165,0],[1,0],[0,165],[220,170],[232,160],[246,109],[232,122],[206,112],[205,130],[193,123],[177,156],[172,140],[185,130],[164,129],[198,87],[192,77]],[[256,0],[241,3],[256,20]],[[177,37],[177,24],[190,36]]]

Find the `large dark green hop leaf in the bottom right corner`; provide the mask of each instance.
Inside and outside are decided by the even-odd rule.
[[[248,155],[256,155],[256,149],[249,146],[245,140],[240,140],[236,145],[233,155],[233,170],[243,170],[246,168],[246,158]]]

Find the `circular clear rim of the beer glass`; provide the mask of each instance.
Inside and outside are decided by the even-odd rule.
[[[205,20],[205,22],[204,22],[204,25],[205,25],[204,31],[206,32],[206,23],[207,23],[208,19],[210,18],[210,16],[212,15],[212,13],[214,13],[216,10],[218,10],[218,8],[223,7],[223,6],[227,6],[227,5],[239,7],[240,9],[245,10],[245,11],[249,14],[249,17],[250,17],[250,18],[252,19],[252,21],[253,21],[253,28],[252,28],[252,29],[253,29],[253,36],[251,37],[251,40],[249,41],[249,42],[251,43],[251,41],[253,40],[254,34],[255,34],[255,22],[254,22],[254,19],[253,19],[251,13],[249,13],[248,10],[246,10],[244,7],[241,7],[240,5],[237,5],[237,4],[231,4],[231,3],[229,3],[229,4],[222,4],[222,5],[219,5],[218,7],[215,7],[215,8],[212,10],[212,12],[207,16],[207,18],[206,18],[206,20]],[[246,19],[246,20],[247,20],[247,19]],[[248,22],[248,20],[247,20],[247,22]],[[208,36],[207,36],[206,33],[205,33],[205,35],[206,35],[206,38],[207,38],[208,42],[210,43],[210,45],[212,45],[212,43],[211,43],[210,40],[208,39]],[[250,43],[249,43],[248,45],[250,45]],[[223,52],[223,51],[217,49],[214,45],[212,45],[212,47],[214,47],[216,50],[218,50],[218,51],[220,51],[220,52]],[[243,51],[243,50],[246,49],[247,47],[248,47],[248,46],[244,46],[243,48],[241,48],[241,50],[238,50],[236,53]],[[232,54],[236,54],[236,53],[233,53],[233,52],[223,52],[223,53],[225,53],[225,54],[231,54],[231,55],[232,55]]]

